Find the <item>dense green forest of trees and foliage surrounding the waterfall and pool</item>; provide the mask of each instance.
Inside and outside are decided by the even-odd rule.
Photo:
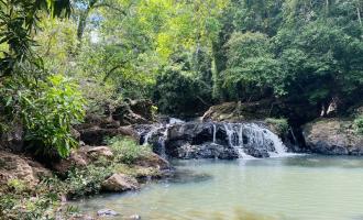
[[[19,134],[48,165],[79,146],[87,116],[133,100],[150,100],[151,121],[263,103],[292,131],[338,116],[363,133],[362,16],[362,0],[0,0],[0,150]],[[108,142],[122,163],[140,154]],[[111,174],[98,168],[97,182]]]

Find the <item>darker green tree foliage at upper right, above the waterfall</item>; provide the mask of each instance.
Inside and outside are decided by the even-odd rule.
[[[233,1],[227,13],[215,46],[217,97],[277,98],[311,109],[360,98],[362,3]]]

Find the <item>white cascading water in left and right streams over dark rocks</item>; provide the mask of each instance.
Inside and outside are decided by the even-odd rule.
[[[184,128],[184,121],[177,119],[170,119],[167,124],[153,125],[151,130],[144,135],[143,144],[153,144],[157,146],[157,153],[166,157],[165,142],[168,139],[168,130],[175,124]],[[219,140],[222,136],[218,133],[220,129],[226,131],[226,140],[228,145],[234,148],[240,158],[251,160],[255,158],[252,155],[261,157],[280,157],[290,155],[286,153],[286,147],[282,140],[264,125],[257,123],[211,123],[202,125],[205,128],[212,129],[210,134],[210,141],[213,144],[221,144],[223,140]],[[222,127],[222,128],[221,128]],[[224,129],[223,129],[224,128]],[[210,131],[210,130],[209,130]],[[218,134],[218,136],[217,136]],[[222,138],[223,139],[223,138]],[[219,141],[222,141],[221,143]],[[208,142],[205,140],[204,142]],[[251,155],[250,155],[251,154]]]

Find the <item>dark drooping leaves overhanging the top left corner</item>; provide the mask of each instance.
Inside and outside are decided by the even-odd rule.
[[[24,62],[42,65],[42,59],[32,52],[31,46],[35,42],[31,33],[44,12],[52,16],[69,15],[70,1],[0,1],[0,44],[8,45],[8,50],[0,52],[0,76],[22,74],[13,70]]]

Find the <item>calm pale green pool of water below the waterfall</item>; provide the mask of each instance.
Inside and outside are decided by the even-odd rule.
[[[178,178],[78,204],[113,219],[363,220],[363,160],[296,156],[251,161],[176,161]]]

